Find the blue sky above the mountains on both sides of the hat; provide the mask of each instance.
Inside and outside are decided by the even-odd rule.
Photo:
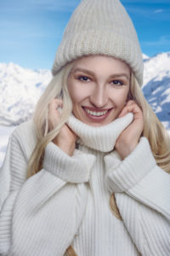
[[[105,1],[105,0],[103,0]],[[80,0],[0,0],[0,62],[48,68]],[[122,0],[144,54],[170,51],[170,0]]]

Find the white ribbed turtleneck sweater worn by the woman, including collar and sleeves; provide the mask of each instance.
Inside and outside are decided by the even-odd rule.
[[[113,151],[132,119],[92,127],[71,116],[73,156],[49,143],[27,180],[33,122],[14,131],[0,171],[0,255],[60,256],[70,245],[78,256],[170,255],[170,175],[145,137],[125,160]]]

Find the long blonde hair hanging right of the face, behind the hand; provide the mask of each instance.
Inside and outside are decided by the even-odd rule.
[[[130,96],[142,108],[144,116],[142,136],[148,139],[152,154],[156,159],[156,164],[164,171],[170,173],[170,137],[160,120],[156,117],[156,113],[153,112],[148,102],[146,102],[133,73],[131,75]]]

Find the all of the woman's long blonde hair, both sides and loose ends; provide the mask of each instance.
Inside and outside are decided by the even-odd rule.
[[[72,103],[67,90],[67,80],[74,63],[75,61],[72,61],[60,69],[59,73],[54,76],[54,79],[52,79],[48,84],[47,89],[37,102],[37,108],[34,113],[34,123],[37,131],[37,145],[34,148],[28,163],[28,177],[31,177],[42,169],[45,147],[59,134],[60,129],[71,114]],[[48,103],[59,96],[63,99],[63,111],[59,124],[51,131],[48,124]],[[142,136],[149,140],[150,148],[156,159],[157,165],[164,171],[170,173],[170,138],[168,137],[167,131],[163,125],[161,125],[159,119],[157,119],[156,114],[146,102],[142,90],[140,89],[133,73],[131,73],[129,97],[133,98],[143,110],[144,130]],[[114,195],[111,195],[110,207],[112,212],[115,212],[116,217],[121,219],[120,212],[118,212],[116,207]],[[70,246],[66,250],[65,255],[77,256],[77,253],[75,253],[73,247]]]

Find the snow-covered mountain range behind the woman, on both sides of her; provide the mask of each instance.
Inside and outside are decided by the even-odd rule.
[[[144,58],[144,96],[170,129],[170,52]],[[52,78],[48,70],[0,63],[0,125],[19,125],[31,118],[42,91]]]

